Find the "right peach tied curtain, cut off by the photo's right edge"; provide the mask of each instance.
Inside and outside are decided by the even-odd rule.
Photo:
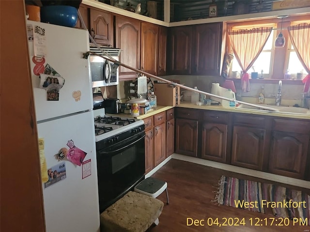
[[[293,47],[302,66],[309,73],[302,81],[304,92],[310,88],[310,24],[301,23],[287,28]]]

